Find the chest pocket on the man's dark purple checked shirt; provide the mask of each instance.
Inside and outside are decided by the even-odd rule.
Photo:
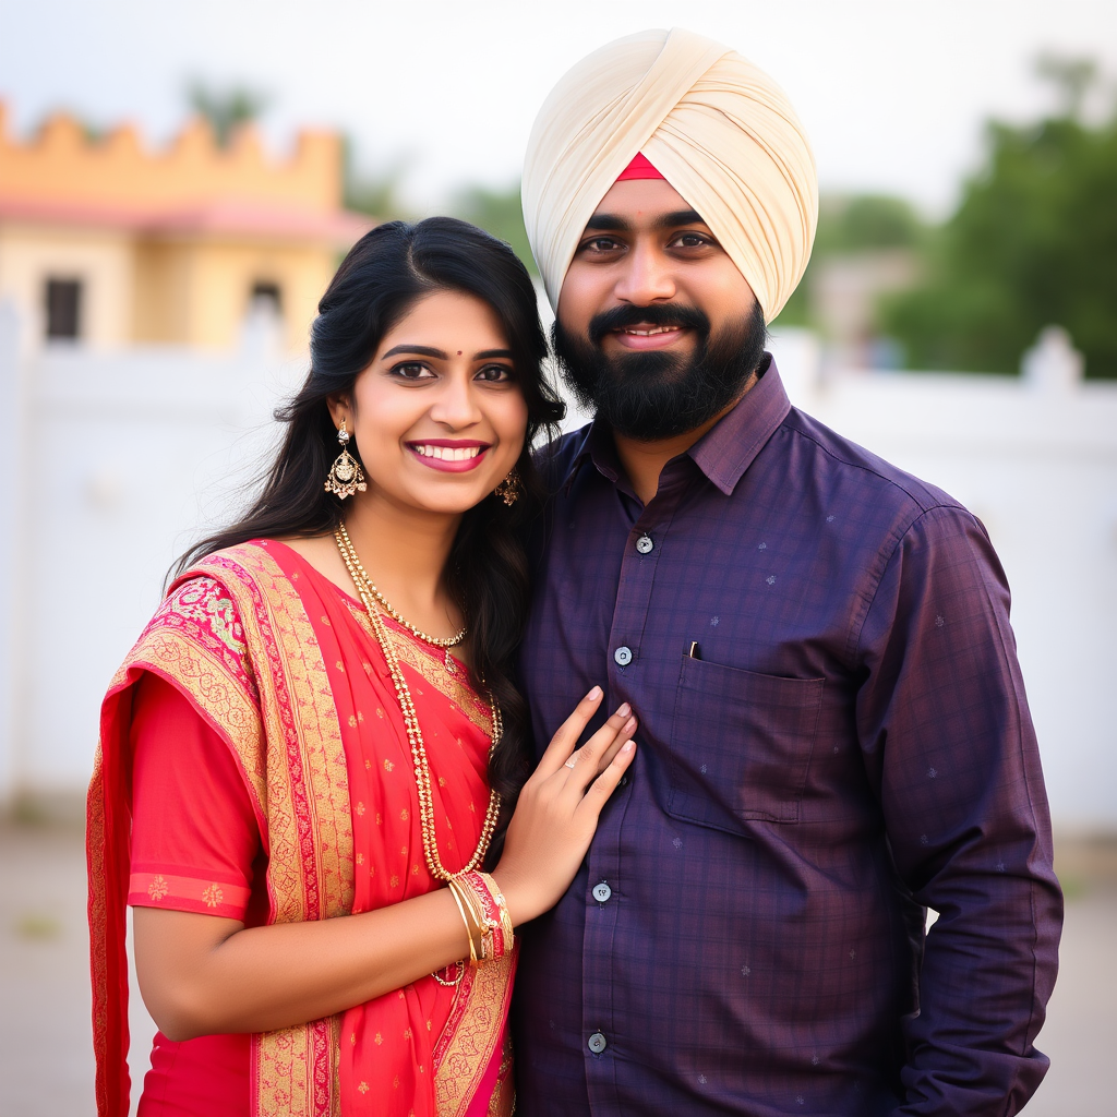
[[[798,822],[823,681],[684,657],[668,813],[735,833],[750,819]]]

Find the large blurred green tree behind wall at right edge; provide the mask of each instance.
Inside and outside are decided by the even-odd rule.
[[[1092,69],[1044,66],[1065,114],[989,125],[984,166],[928,246],[925,281],[881,307],[911,367],[1014,373],[1040,330],[1061,325],[1088,376],[1117,378],[1117,114],[1083,123]]]

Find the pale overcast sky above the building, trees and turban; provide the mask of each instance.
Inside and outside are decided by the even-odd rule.
[[[68,106],[164,142],[192,76],[270,95],[277,149],[299,125],[403,160],[432,209],[462,182],[519,175],[532,120],[579,57],[648,27],[732,45],[780,82],[823,190],[948,210],[990,115],[1052,106],[1033,60],[1090,55],[1117,78],[1115,0],[0,0],[0,97],[17,131]]]

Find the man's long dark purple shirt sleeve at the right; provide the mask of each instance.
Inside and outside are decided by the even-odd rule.
[[[973,516],[933,508],[905,533],[860,650],[858,728],[896,868],[941,913],[906,1022],[898,1113],[1016,1113],[1048,1067],[1033,1041],[1062,896],[1009,589]]]

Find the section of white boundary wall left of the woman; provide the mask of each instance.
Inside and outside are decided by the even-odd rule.
[[[88,781],[102,695],[168,567],[237,506],[271,408],[305,372],[274,336],[248,323],[227,357],[20,356],[0,304],[0,799]]]

